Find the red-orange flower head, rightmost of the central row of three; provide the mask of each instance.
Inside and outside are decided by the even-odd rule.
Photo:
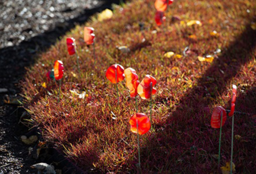
[[[140,95],[141,99],[150,99],[150,84],[152,83],[152,95],[157,92],[157,89],[153,88],[155,84],[157,84],[157,80],[151,75],[146,75],[143,81],[138,85],[137,91],[138,95]]]

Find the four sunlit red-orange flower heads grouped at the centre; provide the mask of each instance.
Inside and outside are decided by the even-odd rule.
[[[157,80],[154,77],[146,75],[145,78],[139,82],[138,75],[133,68],[124,69],[123,66],[119,64],[113,64],[106,70],[106,78],[108,78],[112,84],[117,84],[126,78],[126,86],[130,90],[131,97],[139,95],[141,99],[150,99],[151,95],[157,92],[157,89],[153,88],[153,86],[157,84]],[[131,132],[140,135],[147,133],[151,128],[150,119],[143,113],[134,114],[130,118],[129,123],[131,125]]]

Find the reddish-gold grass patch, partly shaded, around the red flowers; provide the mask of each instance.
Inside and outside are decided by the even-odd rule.
[[[175,1],[165,13],[161,27],[154,20],[154,1],[132,1],[116,6],[112,19],[86,23],[95,28],[93,47],[83,41],[83,27],[77,26],[61,41],[42,53],[22,82],[26,108],[44,139],[87,172],[137,171],[138,148],[129,118],[136,112],[125,81],[116,89],[105,77],[114,63],[132,67],[140,81],[150,74],[158,81],[153,97],[152,131],[141,136],[143,173],[218,173],[219,129],[210,126],[212,108],[229,109],[232,84],[238,86],[236,110],[251,115],[234,115],[233,162],[237,173],[256,171],[256,1]],[[181,21],[177,20],[180,19]],[[202,26],[187,27],[200,20]],[[139,23],[144,24],[140,31]],[[211,36],[217,31],[219,36]],[[195,35],[196,38],[189,37]],[[81,74],[76,57],[69,56],[66,37],[74,37],[79,49]],[[145,42],[142,42],[145,37]],[[128,46],[122,53],[118,46]],[[183,50],[189,47],[189,54]],[[214,53],[221,49],[221,53]],[[182,57],[164,57],[166,52]],[[215,56],[212,63],[197,56]],[[65,75],[58,103],[58,84],[47,82],[45,73],[55,60],[62,60]],[[76,75],[73,75],[76,74]],[[47,83],[47,90],[41,84]],[[85,99],[69,90],[86,91]],[[138,100],[138,110],[150,115],[150,100]],[[253,116],[254,115],[254,116]],[[222,161],[230,160],[231,119],[223,126]]]

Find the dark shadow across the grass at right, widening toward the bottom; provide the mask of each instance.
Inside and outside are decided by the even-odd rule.
[[[209,111],[209,107],[214,104],[216,98],[225,90],[231,90],[230,81],[236,77],[244,64],[254,59],[255,49],[256,31],[252,30],[248,24],[244,32],[228,48],[222,50],[222,55],[219,59],[215,59],[212,66],[198,79],[198,84],[180,100],[180,103],[177,104],[178,107],[169,115],[167,121],[155,125],[158,130],[163,131],[153,133],[152,139],[150,138],[151,140],[147,142],[147,150],[143,151],[144,154],[147,154],[145,154],[145,157],[152,160],[152,164],[158,164],[156,161],[161,160],[161,164],[169,164],[170,168],[166,170],[184,172],[186,169],[191,173],[211,171],[212,166],[217,161],[212,155],[218,154],[218,138],[216,136],[218,137],[219,130],[214,130],[210,126],[211,111]],[[255,115],[255,100],[254,88],[237,98],[236,109],[240,110],[240,107],[243,108],[242,105],[247,104],[241,110],[248,113],[250,111]],[[191,114],[193,117],[189,117]],[[234,144],[233,161],[237,166],[238,173],[253,173],[256,170],[255,161],[252,161],[253,158],[251,158],[251,154],[256,153],[255,125],[252,125],[253,119],[251,116],[243,116],[244,119],[242,116],[235,119],[234,135],[240,134],[244,136],[244,139],[250,139],[250,142]],[[223,139],[225,139],[222,145],[223,164],[230,160],[230,122],[231,119],[228,119],[225,128],[223,128]],[[173,137],[166,139],[166,133],[170,135],[172,132]],[[157,148],[159,150],[155,151],[156,146],[161,148]],[[200,158],[200,166],[198,166],[198,158]],[[247,160],[248,165],[241,166],[239,163],[241,160]],[[161,167],[157,166],[160,169]]]

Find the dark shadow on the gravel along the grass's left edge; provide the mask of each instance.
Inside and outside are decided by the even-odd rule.
[[[101,12],[106,8],[111,9],[112,3],[118,4],[124,2],[119,0],[100,1],[102,3],[98,8],[84,10],[82,14],[74,19],[56,25],[54,30],[45,31],[28,41],[21,42],[17,46],[10,46],[0,50],[0,88],[8,89],[7,93],[0,93],[0,131],[2,134],[0,136],[0,144],[6,145],[6,150],[9,154],[12,154],[13,158],[15,158],[14,160],[19,159],[19,161],[22,161],[22,164],[17,161],[15,161],[15,164],[8,164],[7,166],[9,167],[6,168],[6,172],[13,172],[12,169],[22,173],[35,172],[30,166],[40,161],[29,158],[27,150],[29,146],[24,145],[20,141],[20,136],[28,131],[26,126],[22,124],[18,125],[20,114],[22,114],[24,110],[17,110],[17,106],[6,106],[6,104],[3,103],[3,96],[6,94],[16,95],[19,93],[20,89],[17,84],[20,79],[23,78],[24,74],[26,74],[26,68],[33,66],[37,61],[37,55],[54,45],[66,32],[72,30],[77,24],[85,23],[91,15]],[[52,152],[56,157],[55,153],[56,152]],[[2,151],[0,151],[0,154],[5,155]],[[10,157],[6,156],[6,158]],[[64,165],[66,164],[64,163]],[[67,168],[69,168],[67,173],[71,173],[70,168],[72,167],[67,166]]]

